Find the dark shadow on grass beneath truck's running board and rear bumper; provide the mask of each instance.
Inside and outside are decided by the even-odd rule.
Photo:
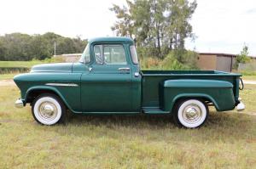
[[[247,115],[238,113],[219,113],[212,111],[208,117],[208,120],[203,128],[212,127],[233,127],[242,124],[245,120],[241,117]],[[250,115],[249,115],[250,116]],[[172,115],[147,115],[147,114],[135,114],[135,115],[69,115],[66,121],[67,125],[94,125],[94,126],[122,126],[122,127],[142,127],[142,124],[147,127],[175,128],[172,121]],[[231,125],[230,125],[231,124]],[[239,125],[241,126],[241,125]]]

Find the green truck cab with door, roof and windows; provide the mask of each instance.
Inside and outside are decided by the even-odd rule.
[[[73,67],[85,70],[81,76],[82,111],[141,110],[142,76],[136,48],[130,38],[90,40],[79,63]]]

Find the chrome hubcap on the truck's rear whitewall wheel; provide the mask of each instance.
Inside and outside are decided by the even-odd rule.
[[[183,120],[189,124],[200,121],[201,117],[201,109],[196,104],[189,104],[183,109]]]

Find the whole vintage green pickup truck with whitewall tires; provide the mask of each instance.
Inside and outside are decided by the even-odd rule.
[[[178,127],[201,127],[209,114],[243,110],[241,75],[216,70],[140,70],[127,37],[89,40],[78,63],[35,65],[15,76],[21,99],[44,125],[77,114],[172,114]]]

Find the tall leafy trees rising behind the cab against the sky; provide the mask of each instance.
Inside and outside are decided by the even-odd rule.
[[[189,3],[191,2],[191,3]],[[182,51],[187,37],[194,37],[189,20],[196,1],[126,0],[127,6],[113,4],[117,17],[112,30],[118,36],[134,37],[139,52],[160,59],[173,49]]]

